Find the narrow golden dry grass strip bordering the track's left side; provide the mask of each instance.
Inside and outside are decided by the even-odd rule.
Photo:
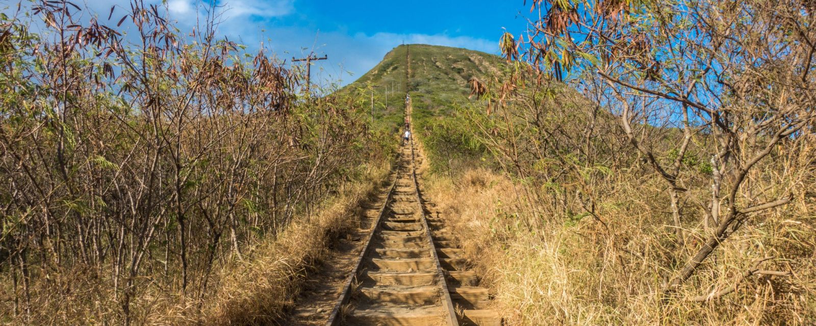
[[[300,293],[310,269],[326,258],[330,244],[359,225],[361,203],[387,172],[376,170],[369,181],[348,187],[319,213],[299,218],[277,239],[256,245],[251,258],[224,267],[211,305],[203,310],[203,324],[258,325],[279,320]]]

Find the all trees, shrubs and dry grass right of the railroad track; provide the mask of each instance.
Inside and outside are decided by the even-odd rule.
[[[535,2],[539,47],[505,34],[479,100],[419,132],[510,324],[816,322],[814,35],[786,32],[811,11],[664,5]]]

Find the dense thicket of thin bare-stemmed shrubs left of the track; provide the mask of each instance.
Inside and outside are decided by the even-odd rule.
[[[144,321],[149,290],[200,302],[217,264],[308,214],[379,151],[355,101],[300,99],[277,59],[216,38],[217,17],[180,37],[166,11],[135,0],[109,13],[132,25],[124,36],[83,23],[71,2],[31,9],[33,20],[0,20],[9,318],[66,322],[48,311],[69,293],[69,310],[109,324]]]

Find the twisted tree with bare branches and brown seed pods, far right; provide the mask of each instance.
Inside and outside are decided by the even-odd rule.
[[[693,143],[710,162],[707,209],[693,218],[710,230],[672,293],[724,240],[758,212],[787,205],[804,189],[812,162],[784,166],[790,189],[761,187],[762,161],[805,155],[813,145],[816,22],[803,1],[537,1],[542,16],[528,36],[532,63],[602,81],[597,92],[624,134],[667,187],[676,242],[685,244],[682,173]],[[648,125],[682,133],[661,160]],[[636,126],[640,125],[640,126]],[[804,148],[802,147],[804,146]],[[805,152],[801,152],[802,150]],[[793,168],[800,173],[792,173]],[[767,172],[767,171],[765,171]]]

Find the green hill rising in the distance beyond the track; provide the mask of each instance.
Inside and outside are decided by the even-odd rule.
[[[419,122],[450,114],[454,104],[467,103],[471,77],[498,71],[497,55],[449,46],[410,44],[395,47],[374,68],[340,91],[374,90],[374,118],[379,126],[397,129],[402,121],[406,92]],[[409,68],[410,66],[410,74]],[[386,108],[388,90],[388,108]]]

